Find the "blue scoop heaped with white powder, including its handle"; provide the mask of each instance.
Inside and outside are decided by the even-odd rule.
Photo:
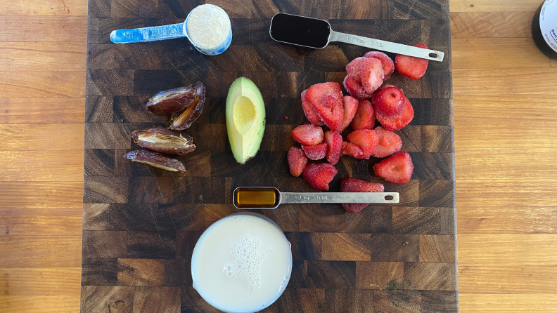
[[[115,44],[156,41],[186,37],[205,55],[223,53],[232,41],[232,28],[228,14],[218,6],[202,4],[194,8],[179,24],[118,29],[110,33]]]

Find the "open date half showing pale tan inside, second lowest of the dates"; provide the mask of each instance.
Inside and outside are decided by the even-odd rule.
[[[196,149],[190,135],[160,126],[138,129],[132,133],[132,138],[139,147],[166,154],[182,155]]]

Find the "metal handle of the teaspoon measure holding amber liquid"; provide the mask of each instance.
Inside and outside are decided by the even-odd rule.
[[[281,204],[397,204],[398,192],[281,192]]]

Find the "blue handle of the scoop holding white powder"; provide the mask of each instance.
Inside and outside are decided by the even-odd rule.
[[[185,37],[184,23],[144,27],[135,29],[118,29],[110,33],[110,40],[115,44],[155,41]]]

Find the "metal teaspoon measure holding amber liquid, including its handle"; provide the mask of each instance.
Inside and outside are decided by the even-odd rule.
[[[280,204],[397,204],[398,192],[280,192],[275,187],[238,187],[236,208],[277,208]]]

